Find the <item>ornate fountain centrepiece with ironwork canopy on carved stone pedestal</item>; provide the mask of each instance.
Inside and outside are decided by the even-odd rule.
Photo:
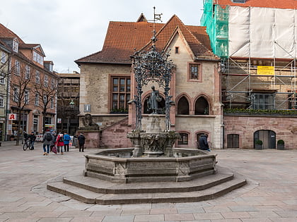
[[[165,154],[173,156],[172,148],[174,142],[180,135],[170,130],[170,106],[173,103],[170,96],[170,80],[174,65],[168,61],[169,54],[156,50],[156,32],[151,38],[152,45],[150,51],[136,51],[132,56],[132,67],[136,80],[137,95],[134,95],[134,105],[136,109],[136,129],[129,132],[127,137],[134,145],[133,156],[146,155],[156,157]],[[148,109],[152,111],[148,116],[146,130],[142,129],[142,87],[148,82],[156,82],[158,87],[163,87],[165,94],[165,130],[161,130],[161,118],[157,113],[158,101],[161,101],[159,91],[155,86],[151,86],[151,96],[148,99]]]

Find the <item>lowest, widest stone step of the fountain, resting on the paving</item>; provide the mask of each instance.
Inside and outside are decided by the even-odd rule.
[[[246,184],[243,178],[233,178],[225,183],[209,187],[206,190],[192,192],[155,192],[129,194],[100,194],[63,182],[48,183],[47,189],[59,192],[88,204],[141,204],[164,202],[199,202],[225,195]],[[134,184],[131,184],[134,186]]]

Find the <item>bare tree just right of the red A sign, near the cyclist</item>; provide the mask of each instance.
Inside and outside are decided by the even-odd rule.
[[[29,92],[30,87],[32,87],[31,79],[33,69],[28,66],[28,64],[16,64],[11,68],[11,76],[9,78],[9,85],[11,87],[10,97],[11,103],[16,106],[17,110],[17,137],[16,137],[16,145],[19,144],[20,140],[20,132],[21,132],[21,116],[24,113],[24,109],[26,106],[30,104]],[[24,130],[24,129],[23,129]]]

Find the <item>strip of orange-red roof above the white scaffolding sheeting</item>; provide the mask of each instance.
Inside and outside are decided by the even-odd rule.
[[[261,8],[297,8],[296,0],[246,0],[245,3],[233,3],[231,0],[214,0],[214,4],[222,6],[242,6]]]

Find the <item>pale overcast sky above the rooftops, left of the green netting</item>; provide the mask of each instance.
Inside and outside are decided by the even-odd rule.
[[[45,60],[58,73],[80,71],[74,60],[100,51],[109,21],[135,22],[141,13],[177,15],[185,25],[200,25],[203,0],[1,0],[0,23],[25,43],[41,44]]]

